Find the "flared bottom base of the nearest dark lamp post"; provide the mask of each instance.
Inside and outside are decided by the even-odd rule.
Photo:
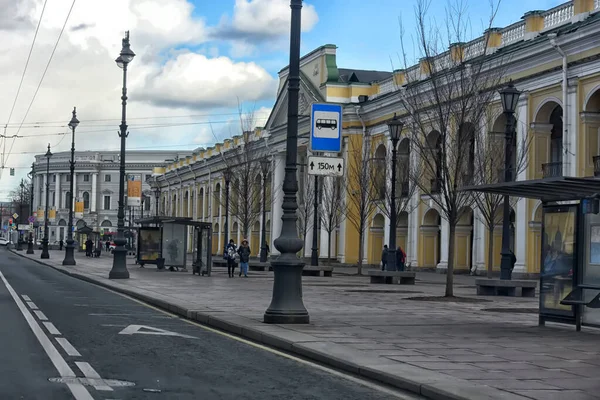
[[[264,323],[308,324],[310,317],[302,301],[304,263],[299,260],[274,260],[271,265],[274,274],[273,298],[265,311]]]

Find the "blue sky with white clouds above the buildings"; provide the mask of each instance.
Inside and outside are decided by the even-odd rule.
[[[335,44],[340,68],[398,68],[401,30],[409,58],[418,58],[411,49],[417,1],[305,1],[302,54]],[[489,2],[457,1],[467,39],[480,36]],[[493,25],[562,3],[503,0]],[[432,25],[445,24],[447,7],[429,1]],[[70,149],[75,106],[76,149],[118,150],[122,70],[114,60],[126,30],[136,53],[127,77],[129,150],[193,150],[242,126],[263,126],[289,60],[288,0],[0,0],[0,9],[0,129],[20,136],[0,143],[2,199],[48,144],[53,152]]]

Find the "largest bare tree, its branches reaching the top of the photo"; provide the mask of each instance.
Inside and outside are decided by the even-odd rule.
[[[470,25],[465,4],[460,0],[449,3],[446,21],[441,24],[429,18],[430,5],[430,0],[418,0],[415,7],[415,50],[422,57],[417,68],[408,67],[402,33],[407,82],[400,90],[400,99],[406,113],[403,119],[411,131],[412,149],[422,169],[412,174],[411,181],[436,204],[448,223],[445,296],[452,297],[456,225],[475,202],[475,196],[461,188],[474,182],[475,143],[496,89],[503,83],[503,64],[500,56],[493,63],[484,56],[489,36],[448,52],[453,43],[468,42]],[[488,28],[496,11],[491,4]],[[441,26],[447,30],[442,32]],[[427,79],[422,79],[423,75]]]

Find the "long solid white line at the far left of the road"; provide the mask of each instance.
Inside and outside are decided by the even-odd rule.
[[[73,372],[71,367],[69,367],[65,359],[61,357],[58,350],[56,350],[56,347],[54,347],[50,339],[48,339],[40,325],[37,323],[35,318],[33,318],[33,315],[31,315],[27,307],[25,307],[25,304],[23,304],[23,302],[21,301],[17,293],[14,291],[10,283],[8,283],[2,272],[0,272],[0,279],[2,279],[4,286],[6,286],[6,289],[17,304],[19,311],[21,311],[21,314],[23,314],[25,321],[27,321],[29,328],[37,338],[38,342],[40,342],[40,345],[46,352],[46,355],[48,355],[48,358],[50,358],[50,361],[54,365],[54,368],[56,368],[60,376],[74,378],[75,372]],[[90,392],[88,392],[87,389],[81,384],[68,384],[67,387],[73,394],[75,400],[94,400],[94,398],[90,395]]]

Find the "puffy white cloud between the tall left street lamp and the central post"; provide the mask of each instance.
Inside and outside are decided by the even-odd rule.
[[[270,98],[276,81],[253,62],[235,63],[227,57],[190,52],[149,70],[142,90],[142,100],[159,106],[223,107],[236,106],[238,100]]]

